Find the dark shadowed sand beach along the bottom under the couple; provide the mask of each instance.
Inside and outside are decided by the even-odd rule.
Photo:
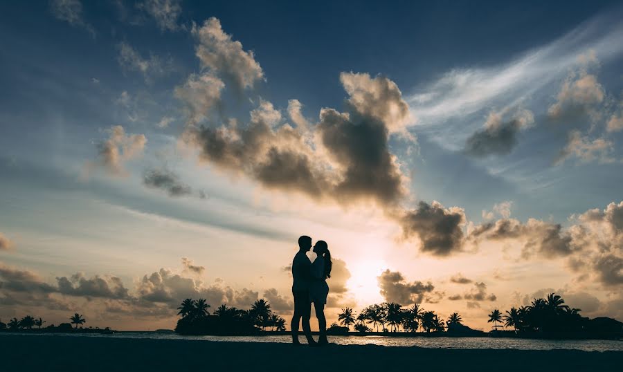
[[[0,335],[0,371],[623,371],[623,352]]]

